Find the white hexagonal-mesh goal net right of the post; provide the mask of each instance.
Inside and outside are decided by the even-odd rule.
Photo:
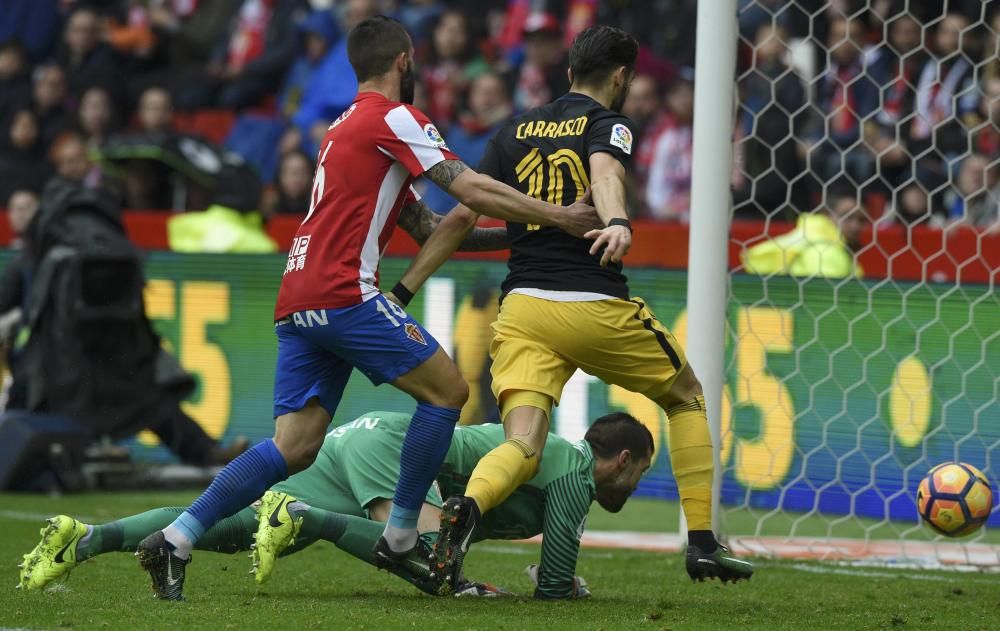
[[[739,3],[720,498],[737,551],[1000,565],[1000,513],[945,539],[915,499],[950,460],[998,489],[998,5]]]

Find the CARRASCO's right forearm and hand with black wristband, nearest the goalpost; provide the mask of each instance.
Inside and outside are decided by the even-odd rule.
[[[632,246],[632,227],[628,223],[625,203],[625,166],[610,153],[590,154],[594,206],[607,228],[591,230],[584,236],[594,239],[590,253],[604,248],[601,265],[618,263]]]

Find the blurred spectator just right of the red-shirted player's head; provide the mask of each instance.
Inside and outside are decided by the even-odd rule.
[[[455,120],[460,95],[476,71],[474,53],[465,15],[458,11],[442,13],[434,24],[430,53],[420,74],[427,94],[427,115],[441,121],[444,131]],[[475,65],[485,70],[482,60]]]

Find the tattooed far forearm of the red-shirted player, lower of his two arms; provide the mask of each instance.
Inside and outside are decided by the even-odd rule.
[[[452,239],[455,236],[460,238],[454,241],[456,245],[452,248],[453,251],[457,249],[460,252],[486,252],[506,250],[510,247],[506,228],[477,228],[477,219],[479,219],[477,213],[462,205],[456,206],[447,215],[442,216],[431,210],[424,202],[417,200],[403,207],[399,213],[399,227],[420,245],[426,245],[431,235],[439,230],[454,233],[449,235]],[[452,239],[449,239],[449,242],[452,242]]]

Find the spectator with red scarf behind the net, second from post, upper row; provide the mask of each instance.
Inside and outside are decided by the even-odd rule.
[[[878,108],[879,90],[865,72],[864,45],[861,20],[837,16],[830,22],[830,65],[816,86],[816,142],[808,162],[820,182],[846,175],[859,184],[870,176],[872,157],[859,141],[864,121]]]

